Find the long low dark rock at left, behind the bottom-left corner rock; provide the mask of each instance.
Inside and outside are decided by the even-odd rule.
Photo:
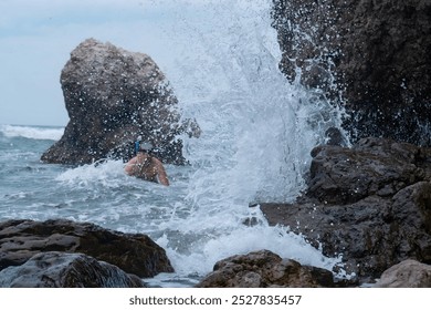
[[[165,250],[146,235],[64,219],[0,223],[0,270],[45,251],[85,254],[143,278],[174,271]]]

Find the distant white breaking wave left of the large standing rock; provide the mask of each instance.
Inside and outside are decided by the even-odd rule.
[[[7,137],[57,141],[62,137],[64,128],[0,125],[0,132]]]

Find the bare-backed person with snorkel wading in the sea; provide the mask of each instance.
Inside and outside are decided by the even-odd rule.
[[[127,162],[124,170],[130,176],[169,186],[164,165],[158,158],[148,154],[151,148],[153,145],[149,143],[138,143],[136,156]]]

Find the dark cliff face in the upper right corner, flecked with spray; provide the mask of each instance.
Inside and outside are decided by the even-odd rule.
[[[431,144],[430,1],[274,0],[273,16],[282,71],[341,95],[354,135]]]

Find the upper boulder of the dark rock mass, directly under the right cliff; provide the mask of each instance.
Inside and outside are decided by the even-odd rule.
[[[370,195],[391,196],[429,178],[430,151],[408,143],[364,138],[351,148],[318,146],[312,151],[307,194],[329,204],[348,204]]]

